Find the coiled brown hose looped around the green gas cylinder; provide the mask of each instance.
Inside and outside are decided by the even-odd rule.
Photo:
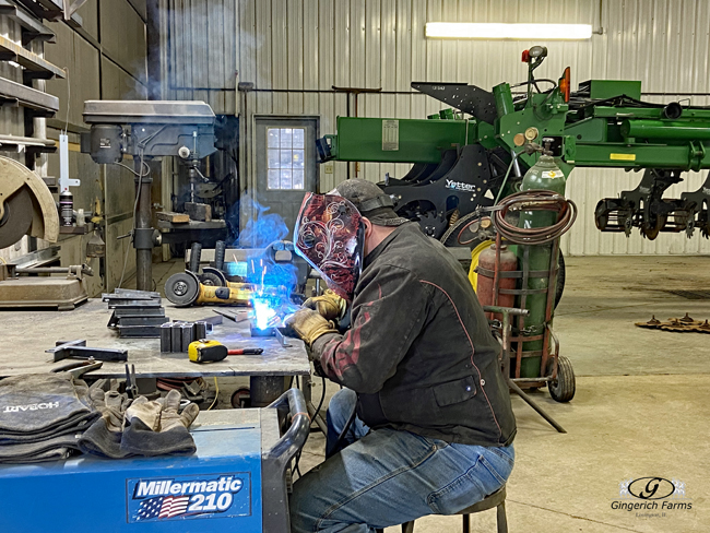
[[[493,212],[493,225],[502,238],[517,245],[544,245],[567,233],[577,218],[577,205],[561,194],[548,190],[516,192],[504,198]],[[557,212],[551,226],[518,227],[506,220],[511,211]]]

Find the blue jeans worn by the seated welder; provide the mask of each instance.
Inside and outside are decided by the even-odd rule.
[[[343,389],[331,400],[329,440],[341,433],[356,398]],[[498,490],[514,461],[512,445],[451,445],[410,431],[368,431],[355,418],[347,434],[353,443],[294,484],[292,533],[371,533],[426,514],[454,514]]]

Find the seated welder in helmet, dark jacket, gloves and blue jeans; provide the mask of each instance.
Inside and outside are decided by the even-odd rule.
[[[343,389],[326,461],[294,485],[292,532],[371,532],[499,489],[516,421],[500,345],[457,260],[362,179],[308,193],[294,240],[330,291],[286,322]]]

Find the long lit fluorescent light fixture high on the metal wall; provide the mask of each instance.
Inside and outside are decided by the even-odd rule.
[[[592,37],[592,26],[590,24],[427,22],[425,35],[437,39],[581,40]]]

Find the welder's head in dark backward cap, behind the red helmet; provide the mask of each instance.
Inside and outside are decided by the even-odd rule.
[[[377,248],[398,226],[410,222],[398,216],[392,199],[371,181],[347,179],[335,187],[333,192],[350,200],[363,215],[365,256]]]

